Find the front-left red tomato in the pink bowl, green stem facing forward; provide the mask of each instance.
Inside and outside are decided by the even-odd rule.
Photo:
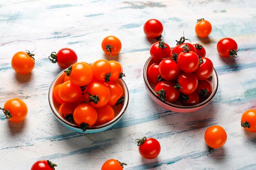
[[[155,86],[155,91],[163,101],[173,103],[180,97],[180,92],[174,88],[175,84],[174,81],[159,82]]]

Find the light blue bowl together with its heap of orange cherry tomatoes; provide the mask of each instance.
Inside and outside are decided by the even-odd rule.
[[[114,126],[128,106],[128,88],[119,62],[78,62],[59,73],[49,88],[49,105],[58,121],[76,132]]]

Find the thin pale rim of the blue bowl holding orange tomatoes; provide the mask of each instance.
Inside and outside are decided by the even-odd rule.
[[[57,110],[55,109],[54,104],[53,104],[53,100],[54,100],[54,98],[53,98],[53,96],[52,96],[52,95],[53,95],[53,90],[54,90],[53,86],[55,85],[56,80],[57,80],[57,79],[64,73],[64,71],[67,70],[67,69],[68,69],[68,68],[66,68],[66,69],[64,69],[63,71],[61,71],[61,73],[59,73],[59,74],[53,79],[53,81],[52,81],[52,83],[51,83],[51,85],[50,85],[50,87],[49,87],[49,91],[48,91],[48,102],[49,102],[50,108],[52,109],[52,112],[54,113],[55,117],[56,117],[59,121],[63,122],[63,123],[64,123],[65,125],[67,125],[67,126],[70,126],[70,127],[72,127],[72,128],[81,130],[80,126],[75,125],[75,124],[71,124],[70,122],[68,122],[68,121],[66,121],[65,119],[63,119],[63,117],[61,117],[60,114],[57,114]],[[111,121],[109,121],[108,123],[103,124],[103,125],[99,125],[99,126],[92,126],[92,127],[89,127],[88,129],[86,129],[86,131],[101,130],[101,129],[104,129],[104,128],[108,127],[108,126],[111,127],[112,124],[115,124],[115,123],[116,123],[117,121],[119,121],[119,119],[121,119],[121,117],[124,115],[124,112],[126,111],[126,108],[128,107],[128,103],[129,103],[129,91],[128,91],[128,87],[127,87],[126,83],[124,82],[124,79],[121,78],[120,81],[124,84],[124,90],[125,90],[124,93],[126,93],[126,97],[125,97],[124,105],[123,105],[121,111],[119,112],[119,114],[118,114],[114,119],[112,119]],[[82,130],[81,130],[81,131],[82,131]],[[83,132],[83,133],[86,133],[86,131]]]

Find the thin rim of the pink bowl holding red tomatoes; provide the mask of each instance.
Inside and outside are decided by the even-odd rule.
[[[192,109],[192,108],[199,108],[201,106],[204,106],[205,104],[209,103],[211,101],[211,99],[213,99],[214,95],[216,94],[217,92],[217,89],[218,89],[218,75],[216,73],[216,70],[215,68],[213,68],[213,73],[212,75],[216,75],[216,89],[214,89],[214,91],[212,91],[211,95],[206,99],[204,100],[203,102],[199,103],[199,104],[196,104],[196,105],[193,105],[193,106],[180,106],[180,105],[177,105],[177,104],[172,104],[172,103],[169,103],[169,102],[166,102],[166,101],[162,101],[161,98],[157,95],[157,93],[155,93],[155,91],[151,88],[151,86],[149,85],[149,82],[148,82],[148,79],[147,79],[147,76],[146,76],[146,68],[148,67],[148,63],[153,60],[152,57],[149,57],[148,60],[146,61],[145,65],[144,65],[144,68],[143,68],[143,78],[144,78],[144,84],[146,85],[146,88],[149,89],[149,91],[154,95],[154,97],[156,99],[158,99],[159,101],[161,101],[163,104],[166,104],[168,106],[171,106],[171,107],[174,107],[174,108],[178,108],[178,109]]]

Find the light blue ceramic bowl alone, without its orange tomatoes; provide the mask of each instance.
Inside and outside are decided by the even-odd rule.
[[[85,130],[85,132],[83,132],[83,130],[80,129],[80,126],[75,125],[75,124],[71,124],[70,122],[66,121],[65,119],[63,119],[63,117],[61,117],[61,115],[58,112],[58,109],[60,107],[60,104],[58,104],[54,98],[53,98],[53,90],[54,88],[58,85],[58,84],[62,84],[63,83],[63,79],[65,77],[64,71],[62,71],[61,73],[59,73],[57,75],[57,77],[55,77],[55,79],[53,80],[50,88],[49,88],[49,94],[48,94],[48,98],[49,98],[49,104],[50,107],[52,109],[52,112],[54,113],[54,116],[56,117],[56,119],[63,124],[65,127],[74,130],[76,132],[81,132],[81,133],[96,133],[96,132],[101,132],[103,130],[106,130],[112,126],[114,126],[115,124],[117,124],[117,122],[121,119],[121,117],[124,115],[124,112],[128,106],[128,100],[129,100],[129,93],[128,93],[128,88],[124,82],[123,79],[118,79],[116,81],[116,83],[118,83],[122,89],[123,89],[123,96],[124,96],[124,105],[119,104],[118,106],[113,106],[112,108],[115,110],[115,118],[112,121],[109,121],[106,124],[103,124],[101,126],[91,126],[89,127],[87,130]]]

